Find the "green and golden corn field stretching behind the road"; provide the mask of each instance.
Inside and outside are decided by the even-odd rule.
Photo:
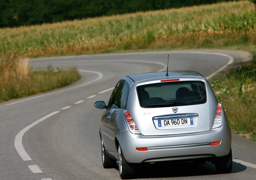
[[[238,1],[2,28],[0,54],[48,56],[104,49],[144,49],[156,41],[221,35],[246,35],[246,43],[255,45],[255,34],[254,5]]]

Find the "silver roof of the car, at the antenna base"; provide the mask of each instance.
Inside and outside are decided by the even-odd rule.
[[[150,73],[142,73],[142,74],[134,74],[125,76],[129,79],[132,79],[133,82],[139,82],[139,81],[151,81],[154,79],[162,78],[162,79],[173,79],[173,78],[192,78],[192,77],[201,77],[204,76],[196,71],[168,71],[168,76],[166,76],[165,72],[150,72]],[[123,77],[123,79],[126,79]]]

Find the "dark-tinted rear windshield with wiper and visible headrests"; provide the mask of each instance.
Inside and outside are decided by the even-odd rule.
[[[203,81],[172,81],[137,87],[142,108],[203,104],[206,90]]]

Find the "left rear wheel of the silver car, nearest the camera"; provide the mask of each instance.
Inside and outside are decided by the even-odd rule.
[[[118,144],[118,168],[121,179],[132,178],[134,174],[134,169],[131,167],[125,158],[122,152],[120,145]]]

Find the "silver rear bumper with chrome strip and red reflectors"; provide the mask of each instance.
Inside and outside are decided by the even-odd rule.
[[[227,155],[231,148],[231,131],[228,124],[210,131],[168,136],[143,136],[125,131],[117,140],[130,163],[186,160]],[[211,146],[211,142],[220,144]],[[145,147],[147,151],[136,150]]]

